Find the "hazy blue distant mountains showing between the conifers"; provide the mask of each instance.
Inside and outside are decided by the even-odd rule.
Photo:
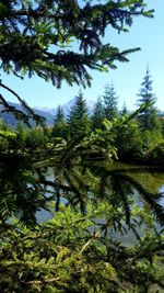
[[[66,117],[69,115],[69,111],[71,106],[73,106],[74,102],[75,102],[75,98],[61,105]],[[23,111],[21,104],[11,103],[11,102],[9,102],[9,104],[12,106],[15,106],[15,109],[20,111]],[[91,100],[86,100],[86,105],[89,109],[89,114],[92,115],[95,102]],[[16,124],[19,123],[15,116],[12,113],[2,112],[2,109],[3,109],[2,105],[0,105],[0,119],[2,119],[7,125],[12,125],[13,127],[15,127]],[[34,108],[33,110],[37,115],[40,115],[46,119],[47,125],[54,124],[54,116],[57,112],[57,108],[50,109],[46,106],[44,108],[37,106],[37,108]]]

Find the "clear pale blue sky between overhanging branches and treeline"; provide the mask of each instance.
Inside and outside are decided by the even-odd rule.
[[[148,0],[148,8],[154,9],[154,19],[137,18],[129,33],[118,34],[109,29],[105,40],[120,49],[141,47],[141,52],[129,55],[129,63],[117,64],[116,70],[108,74],[92,71],[92,87],[82,89],[84,97],[96,100],[103,94],[106,83],[114,82],[119,108],[126,102],[128,109],[134,109],[137,93],[149,65],[153,80],[153,92],[157,98],[156,106],[164,111],[164,0]],[[69,87],[65,82],[56,89],[50,82],[33,77],[20,80],[13,76],[1,74],[3,83],[15,90],[31,106],[56,108],[74,98],[79,87]],[[7,100],[16,102],[9,93],[2,91]]]

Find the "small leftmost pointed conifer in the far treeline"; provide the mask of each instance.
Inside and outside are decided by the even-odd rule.
[[[68,129],[67,129],[67,123],[65,120],[65,113],[61,105],[57,108],[57,113],[55,115],[54,126],[51,129],[51,136],[52,137],[62,137],[67,139],[68,136]]]

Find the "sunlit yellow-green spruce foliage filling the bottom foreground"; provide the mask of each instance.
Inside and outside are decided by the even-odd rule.
[[[109,236],[113,218],[119,223],[119,211],[107,203],[98,203],[97,209],[89,205],[87,211],[82,216],[62,206],[51,221],[34,229],[17,223],[1,225],[1,290],[150,292],[154,284],[162,289],[163,236],[148,234],[128,248]],[[104,215],[104,224],[97,223]]]

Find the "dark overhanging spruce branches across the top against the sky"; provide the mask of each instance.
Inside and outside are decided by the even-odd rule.
[[[134,16],[152,16],[152,10],[139,1],[5,1],[1,3],[0,59],[5,72],[34,74],[57,87],[91,84],[87,69],[116,68],[115,61],[128,61],[138,48],[120,52],[103,44],[107,26],[127,31]],[[77,49],[70,45],[77,44]],[[55,48],[55,49],[54,49]],[[56,49],[57,48],[57,49]]]

